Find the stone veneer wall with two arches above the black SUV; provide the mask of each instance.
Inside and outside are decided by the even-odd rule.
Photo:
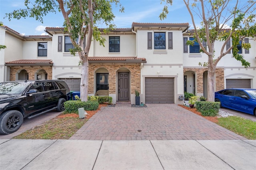
[[[28,72],[28,79],[34,80],[35,73],[38,70],[45,70],[49,80],[52,79],[52,66],[40,67],[40,66],[24,66],[24,67],[10,67],[10,81],[16,80],[16,73],[19,70],[26,70]]]

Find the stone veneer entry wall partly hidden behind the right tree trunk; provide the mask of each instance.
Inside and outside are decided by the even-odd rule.
[[[196,88],[197,93],[204,93],[203,89],[203,73],[208,71],[208,68],[184,68],[183,73],[186,71],[194,71],[196,75]],[[224,68],[216,68],[215,72],[216,79],[216,91],[224,89]]]

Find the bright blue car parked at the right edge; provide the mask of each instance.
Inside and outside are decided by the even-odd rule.
[[[215,92],[220,107],[256,116],[256,89],[224,89]]]

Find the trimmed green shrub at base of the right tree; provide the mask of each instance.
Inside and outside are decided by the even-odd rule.
[[[216,116],[220,109],[220,102],[197,101],[196,110],[203,116]]]

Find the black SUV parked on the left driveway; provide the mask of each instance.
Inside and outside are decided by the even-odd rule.
[[[61,80],[26,80],[0,83],[0,134],[16,132],[23,118],[56,109],[64,111],[70,89]]]

